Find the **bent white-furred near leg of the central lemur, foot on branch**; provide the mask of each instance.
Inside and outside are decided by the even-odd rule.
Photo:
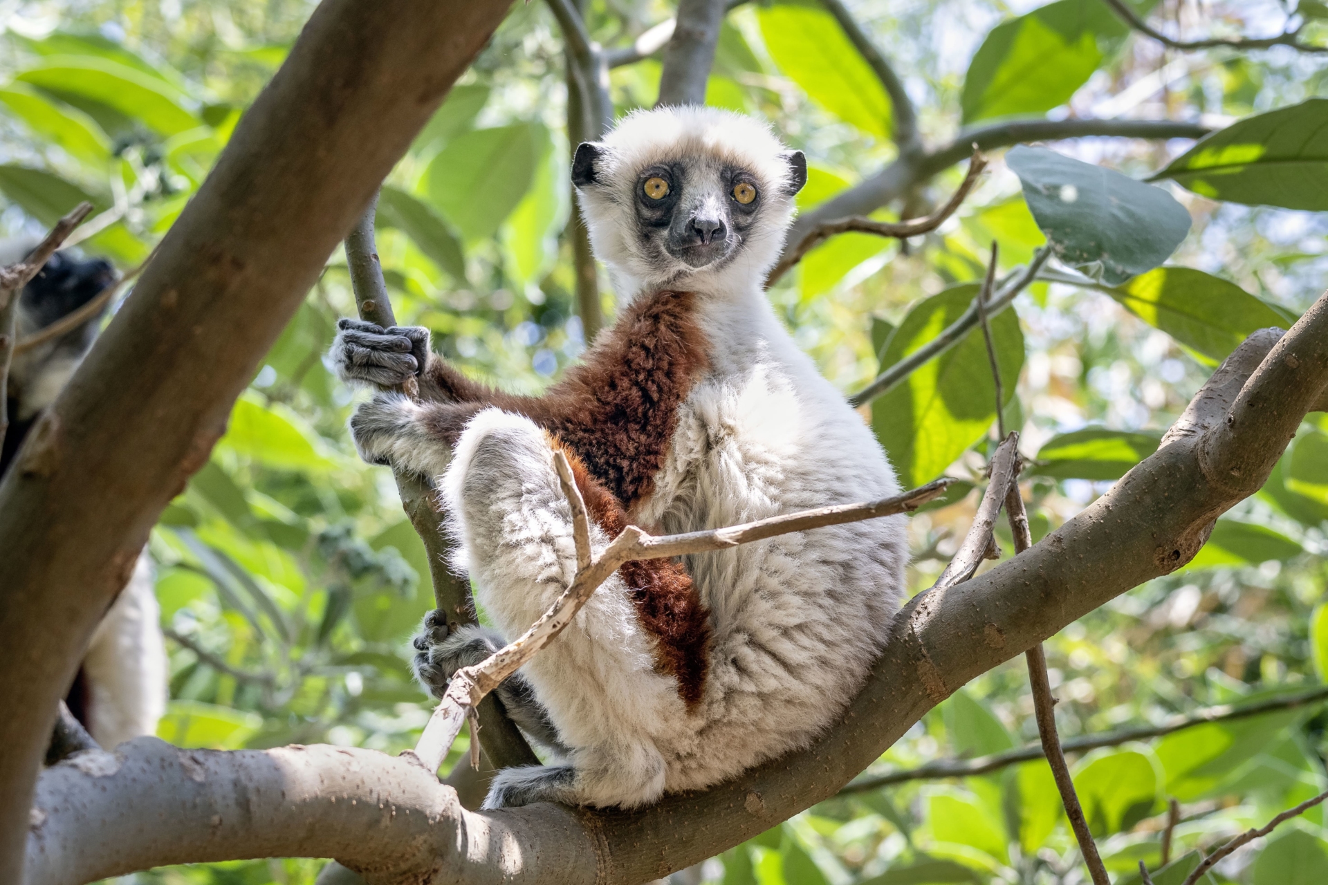
[[[567,588],[576,563],[550,438],[523,417],[487,409],[466,426],[442,486],[479,601],[509,636],[527,629]],[[595,548],[608,540],[592,527]],[[649,735],[684,710],[651,651],[615,575],[522,669],[568,764],[499,772],[486,807],[641,805],[659,797],[664,760]]]

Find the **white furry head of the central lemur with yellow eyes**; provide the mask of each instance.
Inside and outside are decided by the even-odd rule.
[[[714,107],[633,113],[572,162],[595,253],[625,297],[764,279],[806,176],[801,151]]]

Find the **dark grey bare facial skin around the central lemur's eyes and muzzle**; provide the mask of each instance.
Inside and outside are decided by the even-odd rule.
[[[761,188],[756,176],[736,167],[721,167],[717,183],[713,174],[687,172],[680,163],[641,170],[636,218],[644,238],[659,241],[675,259],[701,268],[722,261],[737,249],[761,207]],[[663,196],[656,195],[659,183],[655,179],[667,184]],[[740,184],[752,188],[750,202],[741,203],[734,196]]]

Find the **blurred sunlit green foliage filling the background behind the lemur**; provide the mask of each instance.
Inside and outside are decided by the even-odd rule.
[[[0,228],[32,235],[89,199],[94,232],[80,248],[122,271],[142,261],[311,8],[305,0],[4,3]],[[1309,0],[1299,9],[1291,0],[1137,8],[1185,33],[1270,34],[1297,16],[1303,38],[1328,40],[1328,8]],[[1100,0],[861,0],[851,9],[902,72],[932,142],[1005,117],[1166,117],[1222,129],[1324,94],[1328,70],[1324,56],[1287,48],[1166,50],[1131,36]],[[595,0],[588,23],[614,46],[671,15],[660,0]],[[618,113],[653,103],[659,76],[656,58],[615,68]],[[564,82],[547,8],[515,4],[392,172],[378,208],[400,321],[429,326],[436,348],[466,372],[526,391],[556,378],[586,346],[564,235],[572,211]],[[807,153],[803,210],[896,155],[884,90],[817,4],[730,12],[708,101],[769,119]],[[1289,125],[1315,130],[1323,113],[1317,102],[1301,105]],[[1036,283],[999,317],[1005,419],[1033,458],[1025,496],[1035,537],[1150,454],[1244,334],[1286,325],[1324,288],[1328,150],[1301,151],[1291,166],[1242,167],[1235,178],[1212,172],[1214,157],[1231,159],[1231,145],[1239,153],[1258,142],[1279,159],[1271,123],[1255,129],[1230,130],[1228,143],[1203,155],[1186,154],[1187,141],[1056,145],[1137,179],[1173,163],[1169,178],[1185,187],[1163,187],[1193,227],[1166,267],[1123,283],[1057,271],[1062,281]],[[1279,178],[1287,169],[1292,178]],[[948,170],[910,195],[903,214],[943,199],[960,174]],[[835,238],[770,299],[825,374],[853,393],[961,312],[993,239],[1008,272],[1042,245],[1044,220],[997,157],[938,232],[907,247]],[[602,275],[611,316],[607,285]],[[424,726],[429,707],[406,662],[412,629],[432,608],[428,561],[388,471],[355,456],[345,433],[352,393],[323,361],[336,318],[351,313],[336,253],[235,406],[211,462],[153,533],[171,654],[173,701],[159,731],[167,740],[397,752]],[[908,482],[943,471],[968,480],[911,520],[914,592],[935,580],[973,512],[995,405],[989,391],[964,389],[988,379],[984,349],[965,342],[878,399],[874,414],[863,410]],[[1189,567],[1048,642],[1062,738],[1323,685],[1325,519],[1328,418],[1313,414],[1268,486],[1218,523]],[[1008,555],[1008,533],[1003,547]],[[1155,876],[1158,885],[1179,884],[1191,849],[1321,791],[1325,726],[1320,699],[1078,754],[1076,782],[1113,876],[1137,881],[1139,860],[1157,869],[1170,799],[1181,803],[1171,852],[1181,860]],[[1036,738],[1024,665],[1013,661],[928,714],[869,775]],[[465,748],[462,738],[454,754]],[[1328,881],[1324,837],[1323,812],[1311,811],[1238,852],[1211,881]],[[129,878],[308,882],[320,865],[246,861]],[[687,876],[730,885],[1085,881],[1042,762],[846,793]]]

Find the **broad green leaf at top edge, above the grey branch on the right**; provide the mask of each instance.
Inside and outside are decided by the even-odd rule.
[[[964,122],[1041,114],[1065,103],[1126,33],[1100,0],[1058,0],[1003,21],[968,65]]]

